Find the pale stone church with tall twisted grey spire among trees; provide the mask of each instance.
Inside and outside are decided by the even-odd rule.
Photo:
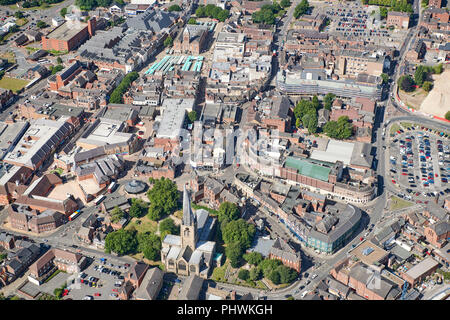
[[[184,186],[180,235],[168,234],[162,241],[161,261],[166,271],[208,278],[216,249],[216,243],[210,241],[215,226],[216,219],[208,211],[192,210],[191,196]]]

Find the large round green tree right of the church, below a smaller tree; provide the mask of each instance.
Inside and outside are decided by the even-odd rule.
[[[221,231],[225,244],[238,243],[244,250],[250,247],[255,235],[255,227],[244,219],[222,224]]]

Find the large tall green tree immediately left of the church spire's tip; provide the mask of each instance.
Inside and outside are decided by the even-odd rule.
[[[149,218],[157,220],[163,215],[171,214],[177,208],[179,196],[175,182],[164,177],[156,180],[147,192],[150,200]]]

